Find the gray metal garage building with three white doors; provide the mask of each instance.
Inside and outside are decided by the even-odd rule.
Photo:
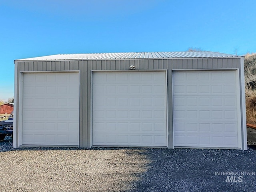
[[[247,149],[243,56],[59,54],[14,63],[15,148]]]

